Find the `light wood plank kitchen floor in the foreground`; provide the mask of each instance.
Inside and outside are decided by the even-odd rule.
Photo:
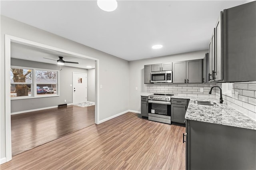
[[[6,169],[185,169],[185,127],[126,113],[12,157]]]

